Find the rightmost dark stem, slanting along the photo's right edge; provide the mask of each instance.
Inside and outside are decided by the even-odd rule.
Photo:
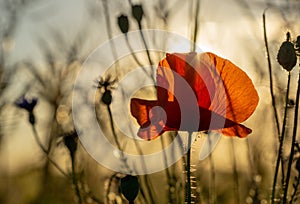
[[[288,163],[288,170],[286,174],[286,181],[285,181],[285,188],[284,188],[284,195],[283,195],[283,203],[285,204],[287,202],[287,192],[289,188],[289,181],[291,176],[291,168],[295,153],[295,142],[296,142],[296,136],[297,136],[297,124],[298,124],[298,113],[299,113],[299,98],[300,98],[300,69],[299,69],[299,76],[298,76],[298,87],[297,87],[297,96],[296,96],[296,106],[295,106],[295,115],[294,115],[294,128],[293,128],[293,137],[292,137],[292,144],[291,144],[291,150],[290,150],[290,157],[289,157],[289,163]]]

